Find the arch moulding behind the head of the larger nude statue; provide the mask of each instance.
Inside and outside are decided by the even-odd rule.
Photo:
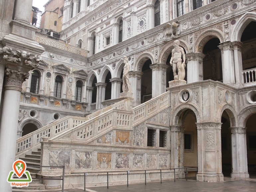
[[[166,60],[168,58],[168,56],[170,55],[170,53],[172,52],[173,49],[173,42],[175,40],[167,43],[161,50],[160,50],[160,54],[158,57],[158,63],[163,63],[166,64]],[[184,42],[183,40],[179,40],[180,41],[180,47],[183,47],[186,51],[186,53],[189,53],[189,46],[186,42]]]

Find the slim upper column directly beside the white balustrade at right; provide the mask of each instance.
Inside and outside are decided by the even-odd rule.
[[[235,80],[236,84],[243,83],[243,77],[241,71],[243,70],[242,66],[242,47],[243,43],[239,41],[232,42],[232,47],[234,51],[234,65],[235,65]]]

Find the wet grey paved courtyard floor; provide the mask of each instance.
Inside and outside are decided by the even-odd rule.
[[[14,190],[15,192],[61,192],[61,190]],[[13,192],[14,192],[13,191]],[[207,183],[197,182],[189,179],[188,181],[183,179],[177,179],[176,182],[163,181],[160,182],[148,182],[129,184],[127,185],[109,185],[100,187],[86,187],[86,192],[256,192],[256,181],[253,180],[231,180],[226,178],[224,182]],[[64,192],[85,192],[82,188],[65,189]]]

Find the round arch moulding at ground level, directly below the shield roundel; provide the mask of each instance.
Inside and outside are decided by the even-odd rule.
[[[201,122],[200,121],[200,113],[199,113],[200,110],[196,106],[194,106],[192,103],[185,103],[185,104],[178,105],[174,109],[174,111],[173,111],[173,113],[171,115],[171,122],[170,122],[170,124],[171,125],[182,124],[181,114],[184,113],[185,110],[187,110],[187,109],[191,109],[194,112],[194,114],[196,116],[196,122],[200,123]],[[184,114],[183,114],[183,116],[184,116]]]

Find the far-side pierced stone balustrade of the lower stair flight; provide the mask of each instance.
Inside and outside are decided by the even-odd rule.
[[[17,139],[16,158],[40,147],[40,142],[42,141],[43,137],[53,138],[68,129],[84,123],[85,121],[85,117],[67,116]]]

